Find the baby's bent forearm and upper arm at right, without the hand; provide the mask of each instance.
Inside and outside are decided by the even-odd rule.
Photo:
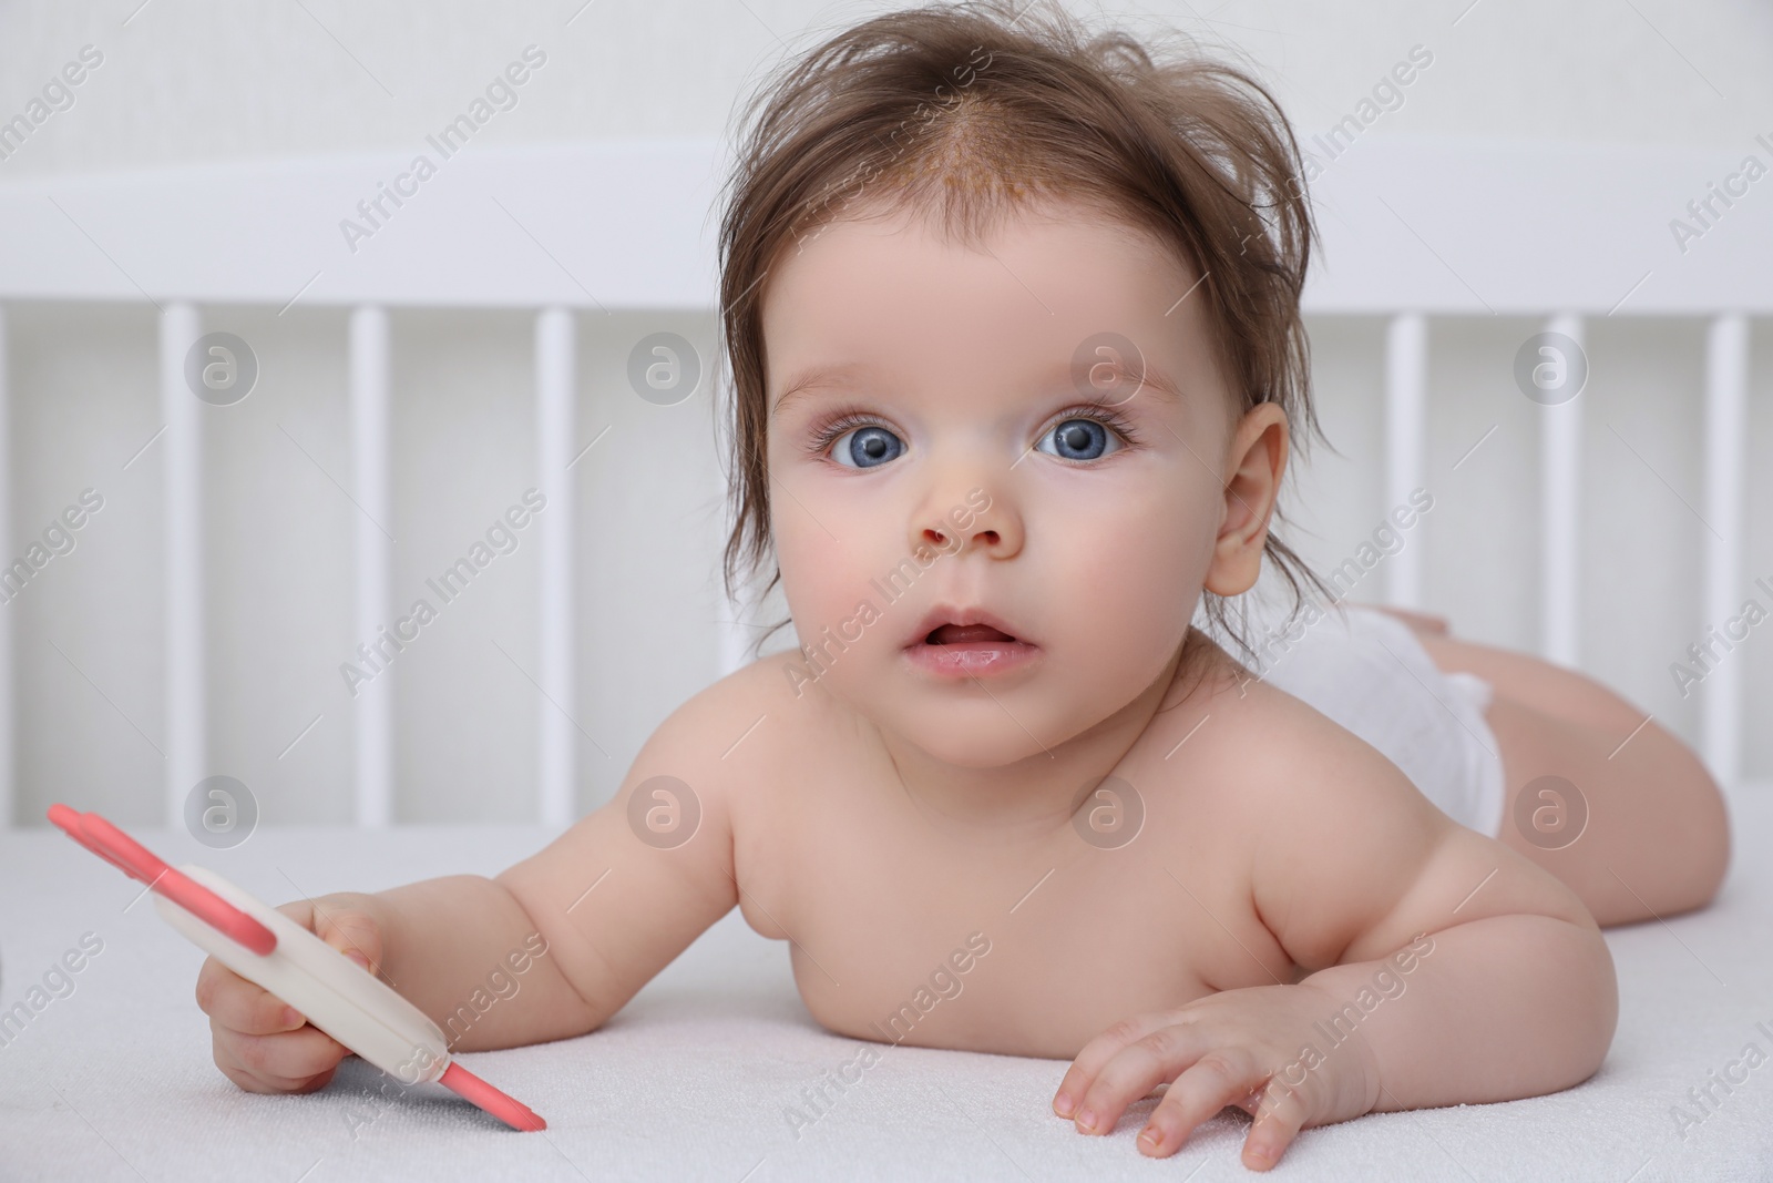
[[[1301,984],[1342,1006],[1363,990],[1371,1000],[1379,970],[1399,983],[1360,1022],[1378,1068],[1372,1109],[1505,1101],[1587,1080],[1619,1018],[1594,917],[1551,873],[1454,823],[1381,763],[1401,791],[1349,786],[1346,812],[1312,811],[1257,867],[1257,906],[1275,915],[1280,944],[1298,965],[1324,967]],[[1314,827],[1330,827],[1319,842],[1305,837]],[[1388,961],[1411,944],[1415,958]]]

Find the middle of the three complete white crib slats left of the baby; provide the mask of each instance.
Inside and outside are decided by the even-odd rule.
[[[388,623],[394,552],[394,493],[388,456],[388,312],[351,312],[351,475],[356,491],[355,633],[374,646]],[[356,823],[394,821],[394,679],[378,676],[356,690]]]

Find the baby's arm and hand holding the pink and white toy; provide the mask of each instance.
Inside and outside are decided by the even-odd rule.
[[[339,892],[282,912],[367,960],[445,1029],[452,1052],[594,1030],[738,903],[727,811],[734,761],[720,756],[736,734],[734,683],[745,678],[741,670],[674,711],[612,802],[498,876]],[[691,786],[693,805],[656,796],[660,784],[647,782],[660,775]],[[652,841],[642,841],[628,809],[642,787],[654,823],[668,823],[674,807],[679,819],[693,811],[693,832],[649,830]],[[300,1018],[285,1022],[282,1000],[213,958],[197,1000],[211,1016],[216,1066],[243,1089],[312,1091],[346,1055]]]

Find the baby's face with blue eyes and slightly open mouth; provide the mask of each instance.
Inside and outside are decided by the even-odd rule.
[[[771,529],[817,653],[794,681],[961,766],[1039,756],[1165,674],[1232,433],[1199,277],[1154,241],[1060,209],[988,247],[828,225],[764,305]],[[1103,333],[1144,383],[1138,358],[1080,380]],[[980,615],[996,630],[934,628]]]

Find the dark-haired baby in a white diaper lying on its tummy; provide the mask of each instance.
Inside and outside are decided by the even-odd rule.
[[[440,1025],[546,949],[456,1032],[473,1052],[596,1030],[738,906],[823,1027],[1069,1059],[1083,1133],[1163,1087],[1154,1156],[1236,1105],[1252,1169],[1305,1126],[1592,1075],[1596,922],[1711,899],[1722,798],[1578,674],[1307,592],[1269,527],[1316,429],[1312,222],[1268,92],[988,2],[851,28],[748,114],[727,576],[773,557],[801,647],[677,708],[496,878],[284,912]],[[1275,679],[1229,610],[1264,555],[1303,608]],[[1330,670],[1317,706],[1289,669]],[[1431,800],[1332,718],[1362,704],[1427,720],[1404,763],[1480,759]],[[216,961],[197,1000],[243,1089],[346,1054]]]

